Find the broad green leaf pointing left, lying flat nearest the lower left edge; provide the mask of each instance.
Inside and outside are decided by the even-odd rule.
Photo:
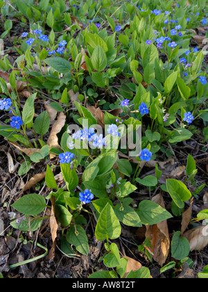
[[[45,209],[46,200],[38,194],[24,195],[12,204],[12,207],[27,216],[35,216]]]

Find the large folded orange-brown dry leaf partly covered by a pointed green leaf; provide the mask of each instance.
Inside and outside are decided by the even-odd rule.
[[[162,195],[155,195],[152,201],[165,208]],[[157,261],[159,266],[163,266],[168,257],[170,248],[167,220],[159,222],[155,225],[146,226],[146,238],[150,238],[150,242],[152,244],[150,251],[153,252],[153,259]]]

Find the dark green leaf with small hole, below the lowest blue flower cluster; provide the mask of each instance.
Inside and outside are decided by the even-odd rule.
[[[76,235],[76,231],[78,235]],[[74,226],[71,226],[69,231],[67,232],[67,241],[76,247],[76,250],[81,254],[87,255],[89,253],[89,243],[87,234],[85,229],[80,225],[76,225],[76,229]]]

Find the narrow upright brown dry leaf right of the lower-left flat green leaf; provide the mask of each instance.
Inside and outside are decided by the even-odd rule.
[[[51,238],[53,241],[53,246],[49,252],[49,259],[53,259],[55,257],[55,239],[57,237],[58,223],[55,218],[55,197],[52,195],[51,197],[51,216],[50,216],[50,228],[51,228]]]

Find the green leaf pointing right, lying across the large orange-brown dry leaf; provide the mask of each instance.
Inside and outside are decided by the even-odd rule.
[[[172,218],[171,213],[166,211],[166,209],[162,208],[159,204],[150,200],[141,201],[137,213],[144,225],[154,225]]]

